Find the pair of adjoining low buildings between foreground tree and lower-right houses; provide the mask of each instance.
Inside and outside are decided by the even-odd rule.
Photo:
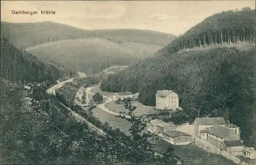
[[[173,145],[187,145],[191,143],[191,135],[177,131],[177,126],[161,120],[152,120],[147,123],[147,131],[157,132],[160,137]]]

